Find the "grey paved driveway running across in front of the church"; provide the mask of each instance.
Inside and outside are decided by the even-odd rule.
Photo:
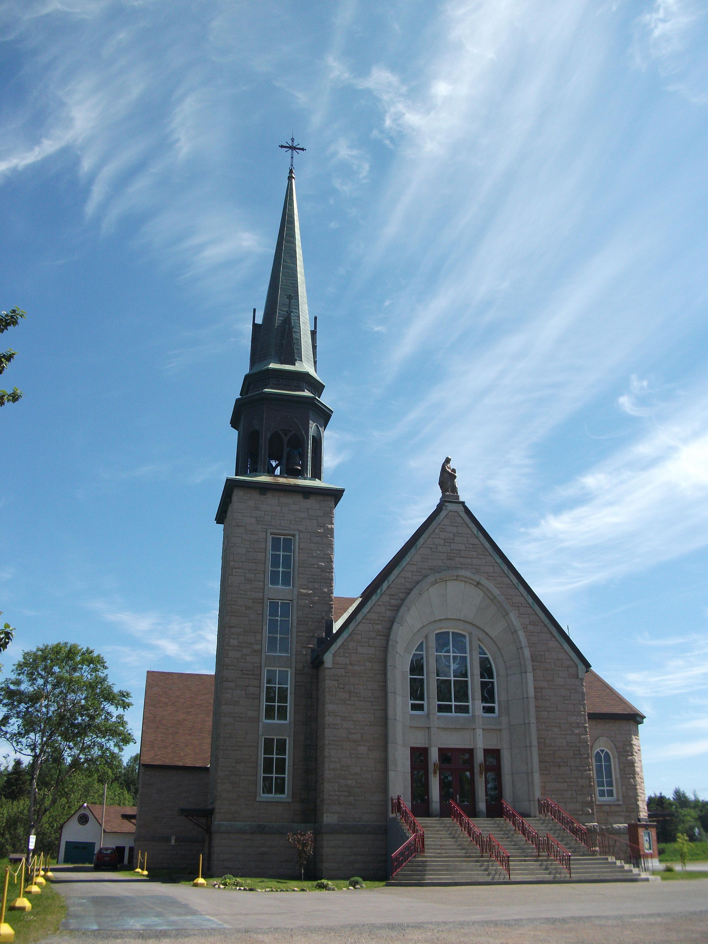
[[[68,912],[57,941],[89,935],[229,942],[708,941],[708,881],[235,892],[131,873],[57,868]]]

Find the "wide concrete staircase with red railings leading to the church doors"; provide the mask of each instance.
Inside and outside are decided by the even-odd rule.
[[[592,855],[565,832],[554,819],[527,820],[542,835],[550,833],[571,853],[572,879],[555,859],[536,856],[531,843],[506,819],[472,819],[482,834],[492,834],[509,852],[511,882],[538,884],[559,882],[637,882],[649,876],[608,856]],[[453,819],[420,818],[426,851],[401,868],[388,885],[503,885],[509,878],[495,859],[480,854],[477,846]]]

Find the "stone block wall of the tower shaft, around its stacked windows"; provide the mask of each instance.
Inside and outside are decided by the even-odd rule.
[[[212,727],[215,874],[236,874],[251,861],[257,840],[241,831],[244,825],[279,824],[287,832],[314,823],[318,693],[310,658],[332,612],[335,504],[331,495],[305,497],[296,485],[288,491],[267,489],[264,495],[254,488],[233,491],[224,525]],[[291,722],[282,725],[281,733],[289,737],[292,757],[287,800],[262,800],[259,783],[269,530],[296,537]],[[276,733],[272,728],[266,735]],[[292,871],[295,858],[284,837],[263,840],[258,848],[261,874]]]

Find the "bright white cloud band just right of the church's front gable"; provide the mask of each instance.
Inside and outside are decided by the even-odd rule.
[[[708,544],[708,394],[574,480],[516,553],[554,592],[617,580]]]

